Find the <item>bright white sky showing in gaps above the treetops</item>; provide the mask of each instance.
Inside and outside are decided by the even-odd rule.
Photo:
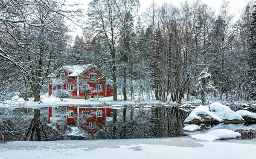
[[[87,4],[91,0],[67,0],[69,3],[80,3],[83,4],[80,6],[80,8],[83,8],[87,10]],[[184,0],[155,0],[155,3],[157,3],[159,6],[162,6],[163,3],[172,3],[175,6],[179,6],[180,2]],[[189,2],[193,2],[194,0],[188,0]],[[221,6],[221,0],[201,0],[203,3],[206,3],[208,6],[211,6],[213,9],[215,9],[216,15],[218,15],[218,10]],[[229,0],[230,1],[230,11],[234,14],[234,20],[238,19],[240,16],[240,11],[243,9],[246,5],[246,3],[250,0]],[[150,6],[152,0],[140,0],[140,12],[145,12],[145,9]],[[81,29],[77,29],[76,32],[74,32],[72,35],[79,35],[81,34]]]

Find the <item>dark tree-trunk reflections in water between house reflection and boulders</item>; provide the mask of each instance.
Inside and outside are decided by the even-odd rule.
[[[177,107],[154,107],[151,110],[127,107],[115,110],[114,120],[107,121],[97,139],[133,139],[185,136],[182,132],[187,112]]]

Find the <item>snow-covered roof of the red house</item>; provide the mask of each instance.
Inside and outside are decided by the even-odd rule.
[[[84,65],[74,65],[74,66],[61,66],[62,69],[66,70],[67,72],[72,72],[70,75],[67,75],[67,77],[74,77],[80,75],[82,72],[84,72],[86,69],[96,67],[94,64],[84,64]]]

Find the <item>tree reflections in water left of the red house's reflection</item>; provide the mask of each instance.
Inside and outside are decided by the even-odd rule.
[[[36,111],[35,111],[36,110]],[[56,125],[50,124],[40,117],[44,114],[32,108],[1,109],[0,110],[0,141],[10,140],[61,140],[62,130],[57,131]]]

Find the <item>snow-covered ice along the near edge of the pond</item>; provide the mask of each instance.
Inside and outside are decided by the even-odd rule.
[[[255,159],[253,140],[191,137],[0,142],[1,159]]]

